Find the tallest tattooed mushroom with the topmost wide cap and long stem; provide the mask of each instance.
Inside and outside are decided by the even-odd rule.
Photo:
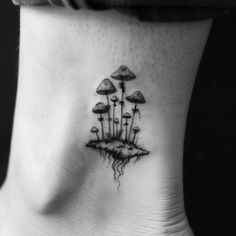
[[[121,89],[121,100],[120,100],[120,133],[119,136],[122,134],[123,131],[123,111],[124,111],[124,94],[125,94],[125,81],[130,81],[136,78],[135,74],[129,70],[127,66],[121,66],[118,70],[116,70],[112,75],[111,78],[115,80],[121,81],[119,83]]]

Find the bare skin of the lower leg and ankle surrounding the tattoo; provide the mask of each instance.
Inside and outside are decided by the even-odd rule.
[[[192,236],[184,210],[183,142],[211,20],[141,22],[112,10],[21,8],[17,102],[0,235]],[[94,91],[120,65],[137,75],[150,154],[118,189],[86,147]],[[99,97],[100,98],[100,97]],[[191,158],[191,157],[188,157]]]

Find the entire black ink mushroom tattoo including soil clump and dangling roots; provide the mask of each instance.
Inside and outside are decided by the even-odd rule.
[[[148,155],[142,145],[138,144],[138,133],[141,131],[138,126],[134,127],[136,114],[140,114],[138,104],[146,103],[143,94],[140,91],[134,92],[130,96],[125,96],[125,81],[134,80],[136,76],[126,66],[121,66],[115,71],[111,78],[119,80],[121,90],[120,101],[116,95],[109,96],[117,92],[115,85],[108,78],[104,79],[98,86],[96,92],[106,97],[106,104],[99,102],[92,109],[92,112],[98,114],[101,130],[92,127],[92,139],[86,144],[100,153],[104,159],[112,162],[111,167],[114,171],[114,180],[120,185],[119,178],[124,174],[125,166],[131,161],[138,161],[141,157]],[[113,103],[110,105],[110,101]],[[119,117],[116,117],[117,103],[120,104]],[[124,113],[125,102],[132,103],[134,107],[131,111]],[[106,118],[106,119],[105,119]],[[104,120],[107,120],[107,129],[105,130]],[[125,120],[125,123],[124,123]],[[120,125],[120,127],[118,127]],[[106,132],[107,131],[107,132]]]

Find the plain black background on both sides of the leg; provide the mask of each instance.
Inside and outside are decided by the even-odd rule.
[[[19,11],[10,0],[0,14],[0,186],[14,113]],[[236,235],[236,10],[217,18],[200,65],[186,131],[186,210],[196,236]],[[234,232],[234,233],[233,233]]]

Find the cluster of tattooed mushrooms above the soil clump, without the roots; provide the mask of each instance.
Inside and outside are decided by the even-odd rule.
[[[139,109],[137,108],[138,104],[145,103],[145,99],[140,91],[136,91],[132,95],[125,97],[126,101],[134,104],[134,107],[132,109],[132,114],[129,112],[124,113],[125,81],[133,80],[136,76],[128,69],[128,67],[121,66],[111,75],[111,78],[120,81],[119,88],[121,89],[121,98],[119,100],[116,95],[109,98],[111,94],[117,92],[116,87],[110,79],[106,78],[100,83],[96,92],[99,95],[104,95],[106,97],[106,104],[99,102],[95,105],[92,111],[99,115],[98,120],[101,124],[101,137],[98,135],[99,129],[97,127],[92,127],[91,132],[96,134],[97,141],[109,142],[112,140],[120,140],[125,143],[135,144],[137,143],[137,141],[135,141],[137,133],[140,131],[139,127],[134,127],[135,115],[139,112]],[[113,104],[110,105],[110,102]],[[118,103],[120,105],[120,119],[116,117],[116,107]],[[107,117],[107,132],[105,132],[104,117]],[[123,123],[124,120],[125,123]],[[124,131],[125,134],[123,138],[122,135]]]

